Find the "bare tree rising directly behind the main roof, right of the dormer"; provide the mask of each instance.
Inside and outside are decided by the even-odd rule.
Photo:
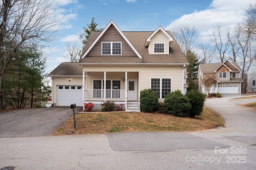
[[[186,58],[188,51],[192,51],[192,45],[197,40],[196,31],[195,27],[184,26],[172,32]]]

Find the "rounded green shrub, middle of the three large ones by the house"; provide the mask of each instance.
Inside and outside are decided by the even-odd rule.
[[[164,105],[168,114],[178,117],[188,116],[191,109],[188,97],[179,90],[169,93],[164,99]]]

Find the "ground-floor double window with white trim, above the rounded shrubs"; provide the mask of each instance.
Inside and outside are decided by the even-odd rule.
[[[159,99],[164,99],[172,91],[171,79],[157,78],[151,79],[151,89]]]

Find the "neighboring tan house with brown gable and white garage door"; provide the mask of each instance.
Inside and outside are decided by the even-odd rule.
[[[240,77],[241,68],[236,62],[225,61],[223,63],[200,64],[198,68],[198,89],[207,93],[202,79],[207,74],[214,74],[214,83],[210,87],[209,93],[241,93]],[[209,77],[207,77],[209,79]]]

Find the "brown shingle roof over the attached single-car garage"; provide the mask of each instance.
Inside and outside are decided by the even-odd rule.
[[[82,68],[78,63],[60,63],[48,76],[82,76]]]

